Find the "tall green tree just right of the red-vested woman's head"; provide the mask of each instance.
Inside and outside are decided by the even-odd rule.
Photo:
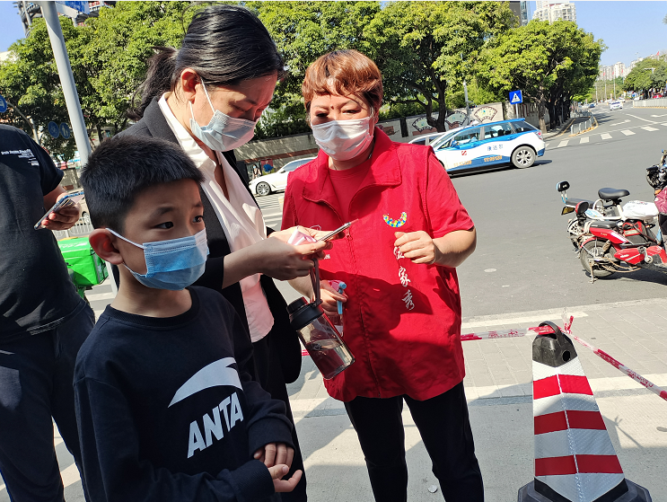
[[[382,70],[385,98],[419,105],[427,123],[443,131],[450,85],[471,80],[487,40],[515,23],[505,2],[391,2],[364,40]]]

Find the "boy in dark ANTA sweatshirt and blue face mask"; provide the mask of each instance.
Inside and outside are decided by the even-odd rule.
[[[114,138],[82,174],[92,248],[118,295],[76,359],[92,502],[279,500],[301,478],[285,404],[250,378],[250,337],[222,295],[192,286],[208,248],[202,176],[174,145]]]

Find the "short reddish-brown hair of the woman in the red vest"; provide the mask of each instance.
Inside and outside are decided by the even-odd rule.
[[[361,52],[334,50],[308,66],[301,91],[309,112],[315,96],[339,94],[358,96],[377,113],[382,106],[382,74]]]

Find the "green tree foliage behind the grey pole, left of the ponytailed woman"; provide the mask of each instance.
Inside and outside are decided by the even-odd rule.
[[[152,47],[179,47],[196,8],[200,7],[192,8],[189,2],[118,2],[83,26],[60,18],[89,137],[93,131],[101,137],[101,127],[111,127],[114,133],[126,127],[125,113],[145,78]],[[74,138],[53,139],[46,133],[51,120],[69,122],[46,22],[36,19],[29,35],[15,42],[10,52],[10,59],[0,64],[0,92],[34,124],[41,145],[71,159]],[[30,130],[17,110],[6,118]]]

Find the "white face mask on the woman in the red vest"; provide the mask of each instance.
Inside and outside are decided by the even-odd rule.
[[[373,116],[365,119],[331,120],[312,126],[312,137],[334,160],[348,161],[362,154],[371,142],[370,123]]]

